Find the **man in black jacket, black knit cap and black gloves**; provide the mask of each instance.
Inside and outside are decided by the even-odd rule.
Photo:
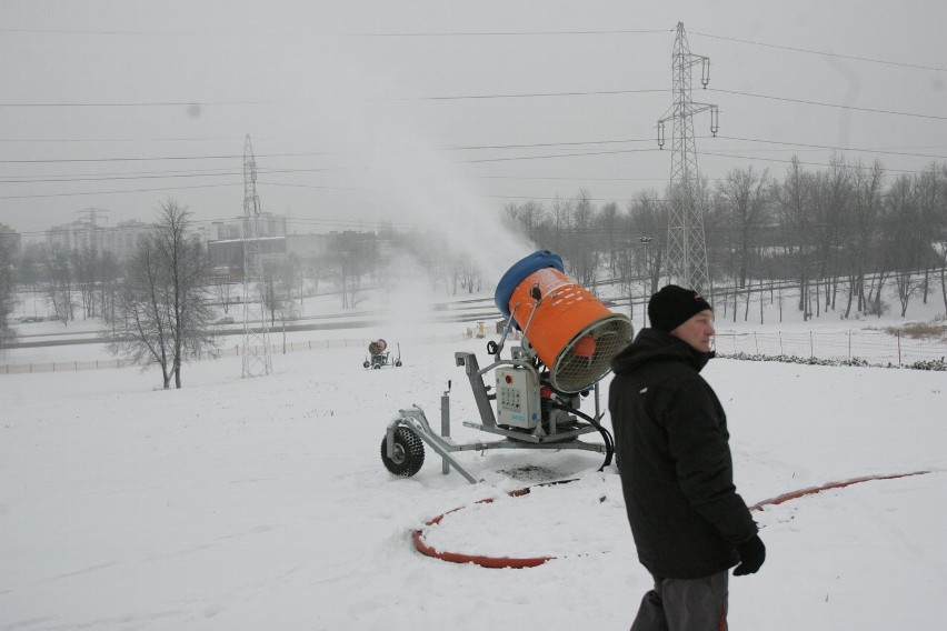
[[[756,572],[766,548],[734,487],[724,408],[699,374],[714,357],[714,311],[671,284],[648,318],[611,363],[608,401],[631,534],[655,581],[631,631],[719,631],[728,570]]]

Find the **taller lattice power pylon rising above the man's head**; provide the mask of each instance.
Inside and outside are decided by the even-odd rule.
[[[665,146],[665,123],[674,121],[671,139],[670,211],[668,213],[668,282],[704,291],[709,288],[704,211],[697,199],[699,182],[694,144],[694,114],[710,110],[710,133],[717,134],[717,106],[691,99],[691,69],[701,66],[700,81],[710,81],[710,59],[690,52],[684,22],[677,23],[674,44],[674,103],[658,121],[658,147]]]

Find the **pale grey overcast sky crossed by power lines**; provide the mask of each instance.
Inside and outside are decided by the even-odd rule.
[[[297,232],[489,233],[506,203],[581,189],[625,208],[669,178],[678,22],[711,62],[711,180],[947,161],[943,0],[4,0],[0,222],[240,216],[247,134],[262,209]]]

